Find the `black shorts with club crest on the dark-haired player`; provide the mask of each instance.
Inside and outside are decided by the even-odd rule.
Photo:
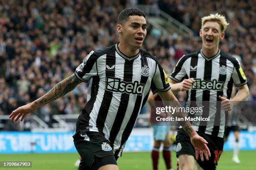
[[[73,138],[82,158],[79,170],[98,170],[103,165],[117,165],[113,148],[102,133],[78,130]]]

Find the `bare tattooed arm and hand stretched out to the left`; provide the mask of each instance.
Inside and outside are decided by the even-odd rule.
[[[11,121],[17,122],[21,117],[20,121],[23,121],[28,113],[31,113],[35,111],[38,107],[46,105],[49,102],[57,100],[58,98],[66,95],[81,82],[82,81],[78,80],[77,77],[72,74],[71,76],[56,84],[49,92],[47,92],[42,97],[31,103],[28,103],[27,105],[18,107],[10,114],[9,118],[11,119]]]

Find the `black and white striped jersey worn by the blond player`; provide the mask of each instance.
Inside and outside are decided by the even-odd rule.
[[[184,55],[177,62],[170,78],[176,82],[182,82],[192,77],[195,82],[187,92],[187,105],[195,106],[195,102],[191,101],[196,101],[197,107],[203,107],[203,112],[189,114],[189,116],[210,117],[210,121],[204,123],[194,121],[192,125],[195,130],[223,138],[225,112],[220,107],[218,96],[229,99],[233,83],[236,86],[247,83],[238,60],[220,50],[210,58],[207,58],[202,50]]]

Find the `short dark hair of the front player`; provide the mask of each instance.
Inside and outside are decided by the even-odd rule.
[[[118,16],[118,24],[124,24],[129,20],[129,16],[143,16],[146,19],[145,13],[138,8],[125,8],[122,10]]]

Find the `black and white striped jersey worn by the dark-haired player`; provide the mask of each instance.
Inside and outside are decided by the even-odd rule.
[[[150,89],[153,93],[171,87],[156,57],[139,50],[125,56],[118,44],[92,51],[75,71],[90,85],[88,102],[77,120],[77,130],[102,132],[120,156]]]

